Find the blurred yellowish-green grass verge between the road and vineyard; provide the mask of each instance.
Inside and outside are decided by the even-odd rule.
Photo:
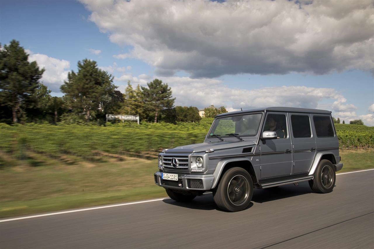
[[[340,172],[374,168],[373,150],[342,150]],[[36,153],[0,153],[0,217],[166,196],[153,182],[157,160],[128,158],[75,164]],[[339,172],[339,173],[340,173]]]

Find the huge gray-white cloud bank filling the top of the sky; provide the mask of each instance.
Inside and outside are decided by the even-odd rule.
[[[374,1],[90,1],[89,19],[156,74],[374,74]],[[125,25],[124,25],[125,24]]]

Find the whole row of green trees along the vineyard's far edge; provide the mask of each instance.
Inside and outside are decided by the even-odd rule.
[[[105,114],[139,115],[147,122],[198,122],[197,107],[174,106],[172,90],[162,80],[134,88],[129,81],[125,93],[113,84],[114,77],[98,68],[95,61],[83,59],[77,71],[68,73],[60,87],[62,97],[51,91],[40,79],[44,73],[19,42],[0,44],[0,122],[103,123]],[[205,117],[227,112],[210,106]]]

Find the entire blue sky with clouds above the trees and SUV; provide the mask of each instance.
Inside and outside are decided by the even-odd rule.
[[[115,76],[121,91],[127,80],[144,85],[161,78],[172,87],[177,105],[214,104],[229,110],[258,105],[324,108],[346,121],[361,118],[374,125],[374,36],[365,26],[362,31],[354,25],[344,29],[345,22],[355,22],[349,19],[355,10],[373,16],[373,4],[340,6],[339,11],[346,12],[342,18],[322,13],[314,3],[300,12],[292,1],[278,5],[252,1],[237,4],[234,15],[226,3],[187,3],[2,0],[0,42],[18,40],[30,58],[46,68],[43,82],[57,96],[62,95],[58,89],[67,71],[76,71],[77,61],[89,58]],[[278,23],[268,24],[264,15],[256,16],[251,12],[254,7],[278,18]],[[186,9],[199,13],[188,16]],[[281,13],[288,13],[287,18]],[[309,18],[313,26],[300,24],[302,18]],[[326,23],[316,21],[324,18]],[[368,19],[365,14],[362,18]],[[367,25],[372,30],[373,24]],[[337,34],[328,37],[331,30],[324,31],[325,26]],[[322,40],[314,41],[319,34],[309,33],[315,27],[326,32]],[[245,36],[247,30],[254,35]],[[283,49],[285,44],[290,46]],[[355,58],[349,54],[352,50]],[[336,51],[341,51],[338,56]]]

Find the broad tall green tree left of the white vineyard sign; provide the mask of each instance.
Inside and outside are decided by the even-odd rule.
[[[100,70],[95,61],[78,61],[78,72],[71,70],[68,80],[61,86],[61,91],[70,98],[71,108],[77,113],[84,113],[86,120],[98,110],[105,96],[113,94],[117,86],[114,77]]]

